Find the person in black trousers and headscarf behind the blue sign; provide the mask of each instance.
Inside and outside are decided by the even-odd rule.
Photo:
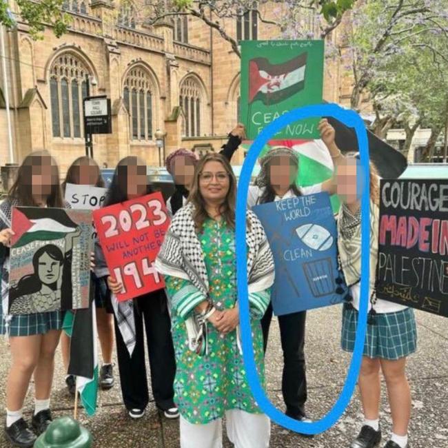
[[[319,123],[320,138],[327,145],[336,167],[342,154],[334,141],[334,129],[326,119]],[[288,147],[274,147],[260,160],[261,171],[255,185],[249,187],[247,207],[281,201],[305,194],[328,192],[334,194],[334,178],[309,187],[298,187],[296,178],[300,166],[298,155]],[[272,320],[272,303],[261,320],[264,349],[267,348],[269,327]],[[297,312],[278,316],[281,344],[283,349],[282,393],[285,402],[285,414],[300,421],[309,421],[305,411],[307,400],[307,379],[305,374],[305,320],[306,312]]]

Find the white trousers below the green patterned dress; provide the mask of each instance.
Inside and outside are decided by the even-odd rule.
[[[239,409],[225,411],[227,437],[235,448],[269,448],[271,420],[265,414],[250,414]],[[222,448],[221,418],[205,425],[193,425],[180,418],[181,448]]]

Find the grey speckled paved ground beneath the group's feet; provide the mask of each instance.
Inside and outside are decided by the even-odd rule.
[[[409,378],[412,389],[413,416],[411,420],[411,447],[448,448],[448,321],[430,314],[418,313],[418,353],[409,360]],[[340,351],[340,310],[336,307],[309,312],[307,319],[307,377],[309,400],[307,409],[312,418],[320,418],[331,409],[343,385],[349,356]],[[267,388],[269,398],[282,407],[281,349],[276,325],[271,332],[267,354]],[[4,384],[10,363],[3,338],[0,340],[0,394],[4,403]],[[385,392],[385,390],[383,390]],[[26,402],[26,413],[32,411],[31,395]],[[61,356],[57,355],[57,374],[52,394],[52,408],[56,416],[70,414],[72,400],[63,385]],[[390,432],[390,413],[383,394],[381,422],[386,435]],[[81,412],[82,415],[82,412]],[[1,411],[4,418],[4,411]],[[81,421],[94,435],[95,447],[108,448],[178,448],[178,422],[165,419],[151,403],[145,417],[132,421],[121,405],[119,385],[101,392],[99,411],[94,418],[81,416]],[[273,425],[273,448],[345,448],[357,433],[362,416],[355,394],[340,421],[325,434],[313,439],[297,436]],[[384,441],[385,443],[385,441]],[[383,444],[384,444],[383,443]],[[0,436],[0,447],[8,447]],[[225,448],[232,445],[225,441]],[[198,447],[201,448],[201,447]]]

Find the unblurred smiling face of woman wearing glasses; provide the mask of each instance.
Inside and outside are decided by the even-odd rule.
[[[199,173],[199,191],[206,203],[223,203],[229,192],[230,178],[225,167],[216,161],[205,163]]]

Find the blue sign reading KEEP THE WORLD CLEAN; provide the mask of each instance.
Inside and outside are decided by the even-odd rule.
[[[336,221],[327,193],[283,199],[252,210],[274,254],[272,307],[276,316],[341,303]]]

